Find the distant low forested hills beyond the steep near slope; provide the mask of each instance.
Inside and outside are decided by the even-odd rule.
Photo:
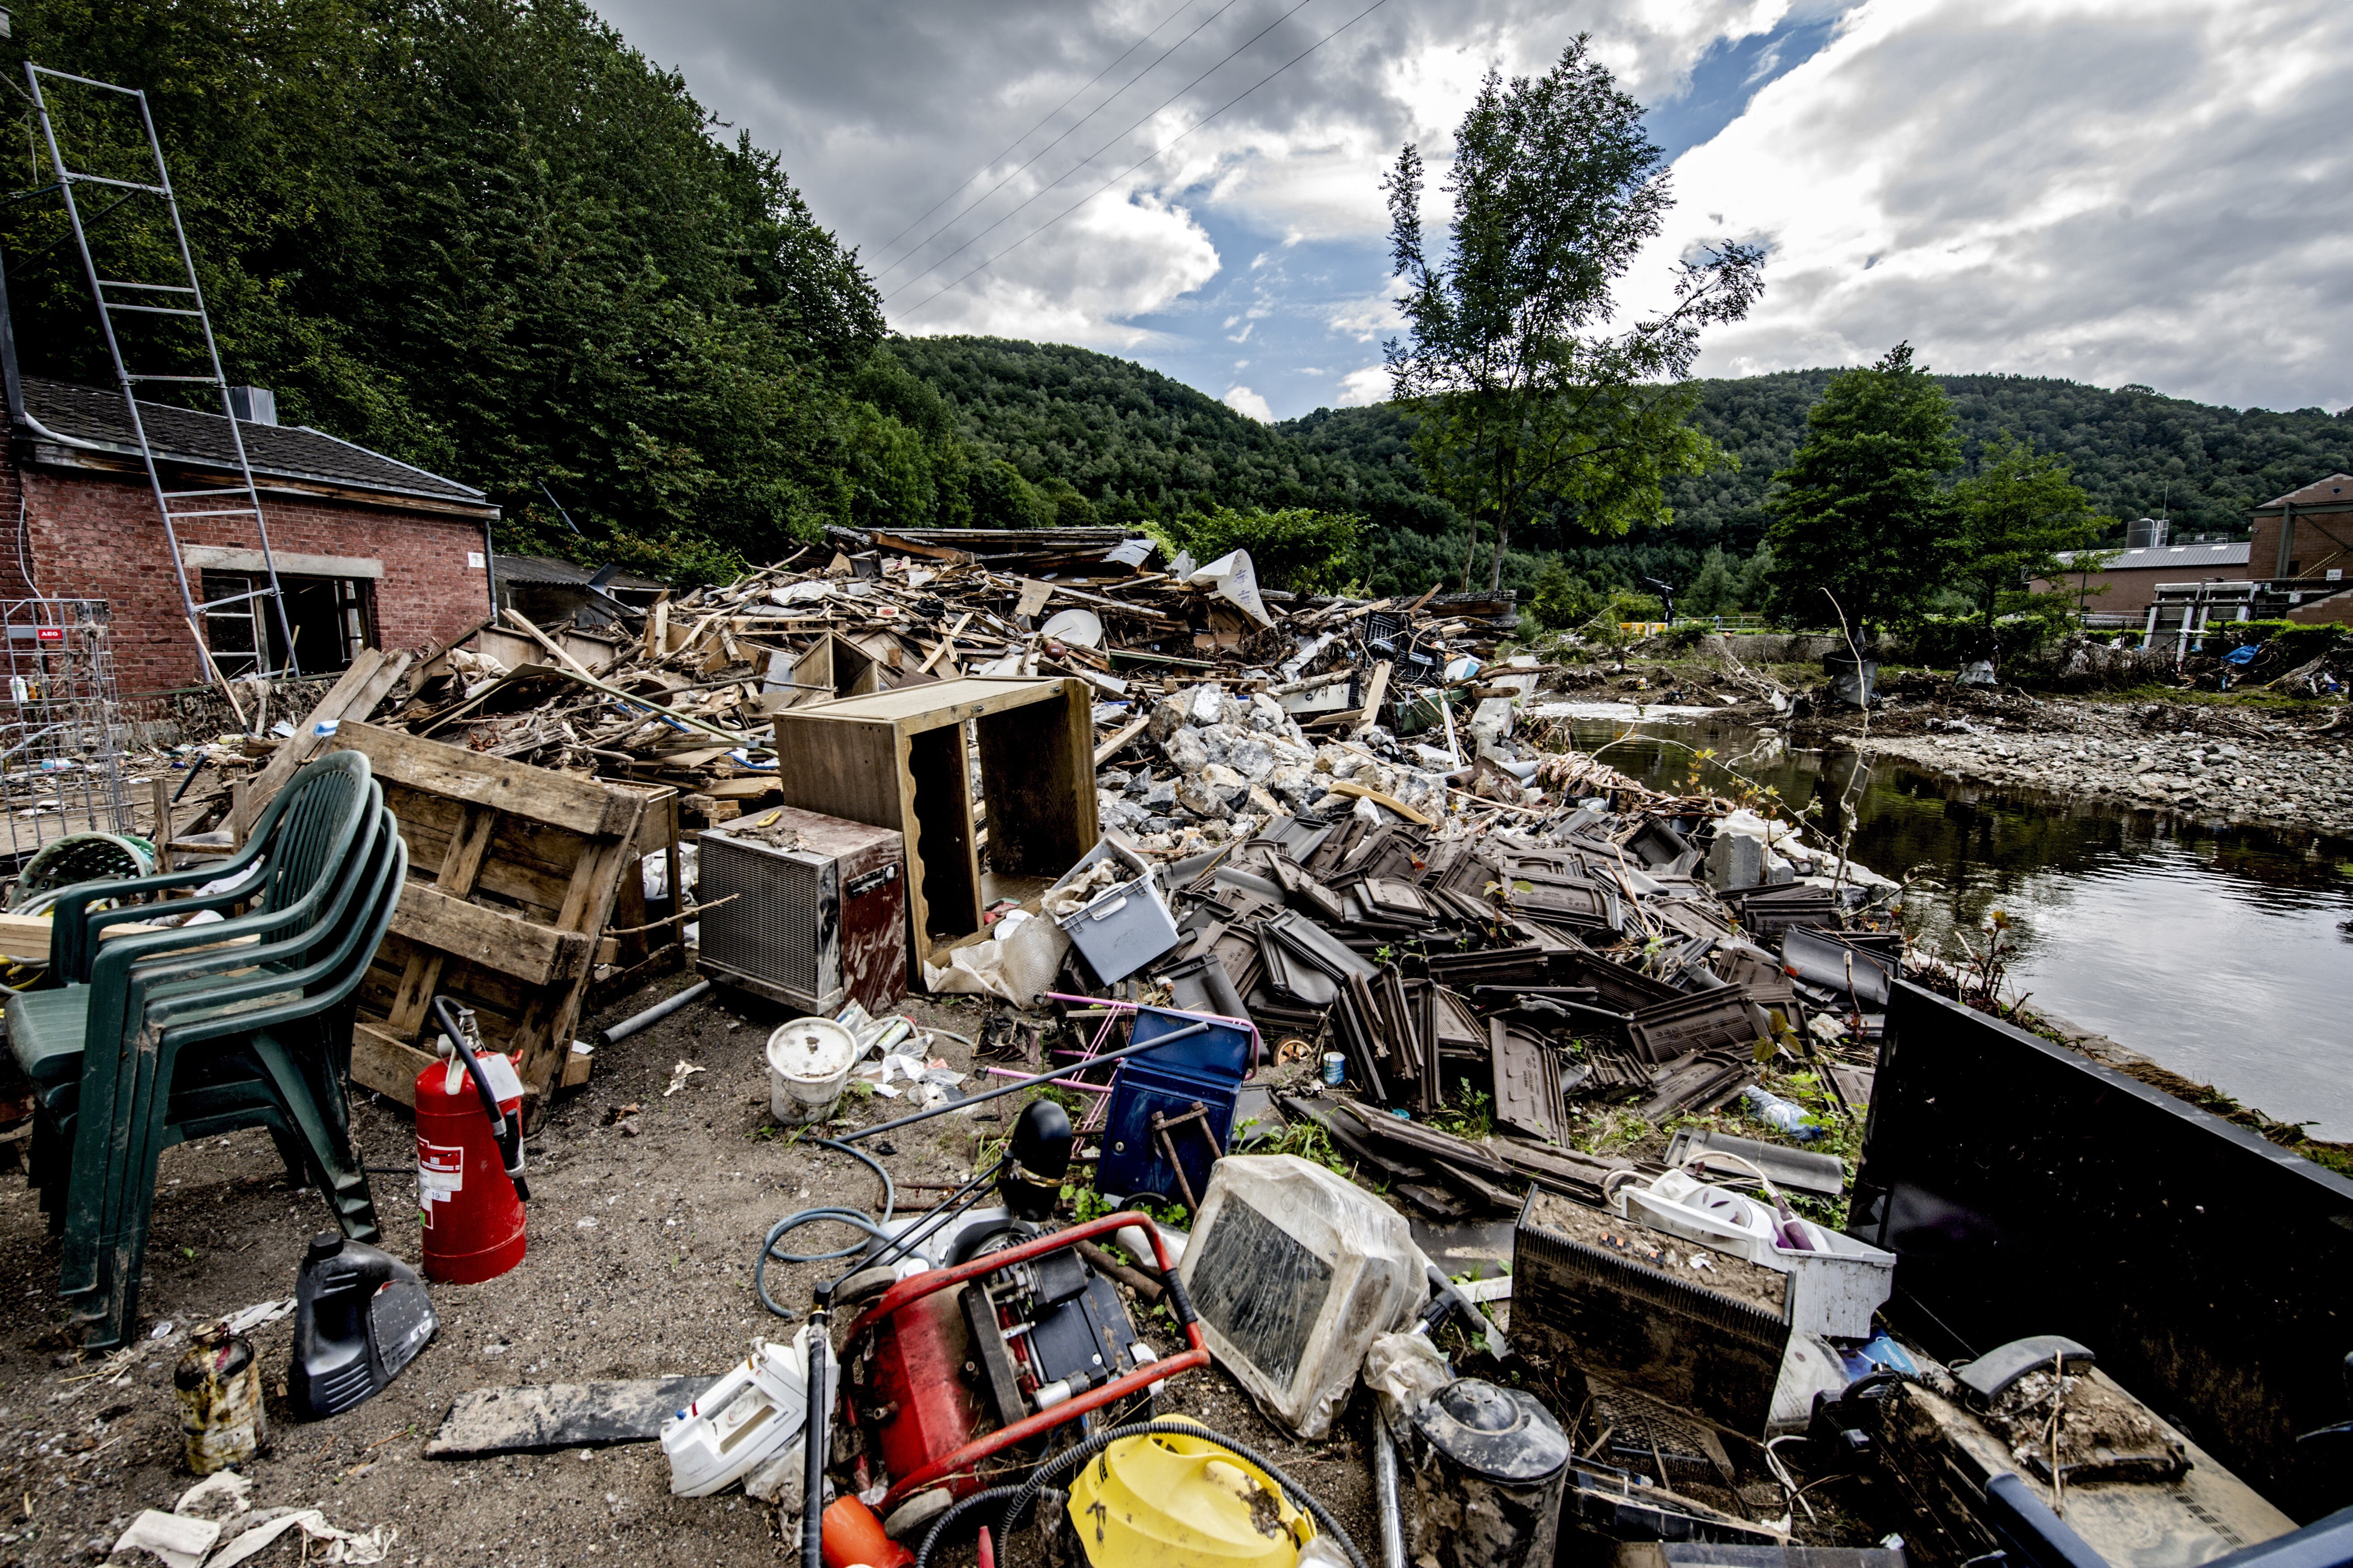
[[[1369,585],[1421,588],[1459,574],[1468,529],[1424,494],[1407,423],[1388,407],[1318,409],[1259,425],[1127,360],[1002,339],[901,339],[896,357],[953,407],[960,435],[1033,487],[1071,484],[1108,520],[1188,505],[1318,505],[1369,520]],[[1689,583],[1711,548],[1746,557],[1765,534],[1765,491],[1835,371],[1701,381],[1697,423],[1729,458],[1675,480],[1673,517],[1633,538],[1584,548],[1541,529],[1593,578]],[[2353,470],[2353,411],[2217,409],[2146,388],[2106,390],[2031,376],[1939,376],[1953,397],[1965,468],[2002,430],[2061,451],[2092,503],[2113,517],[2169,510],[2177,534],[2242,534],[2259,501]],[[2120,531],[2118,531],[2120,536]],[[1529,585],[1541,555],[1515,552],[1506,581]]]

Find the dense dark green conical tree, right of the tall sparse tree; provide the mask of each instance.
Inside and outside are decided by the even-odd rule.
[[[1918,611],[1951,559],[1953,404],[1911,343],[1833,376],[1774,475],[1772,595],[1786,621],[1875,632]]]

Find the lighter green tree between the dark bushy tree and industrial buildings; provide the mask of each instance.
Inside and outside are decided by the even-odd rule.
[[[2033,595],[2028,581],[2066,576],[2061,550],[2087,548],[2113,522],[2092,510],[2066,458],[2007,430],[1986,447],[1979,470],[1953,487],[1953,512],[1960,522],[1953,581],[1967,588],[1988,642],[2005,614],[2064,614],[2066,595]]]

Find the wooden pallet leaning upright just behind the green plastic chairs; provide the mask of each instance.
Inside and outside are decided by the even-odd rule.
[[[409,884],[360,983],[351,1077],[414,1105],[435,1058],[435,994],[475,1009],[494,1051],[518,1058],[525,1119],[562,1084],[598,938],[635,870],[642,792],[344,724],[409,842]]]

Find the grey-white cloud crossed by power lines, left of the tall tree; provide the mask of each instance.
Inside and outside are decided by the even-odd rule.
[[[904,244],[986,193],[1207,14],[1184,12],[1089,89],[1089,78],[1169,16],[1167,0],[998,0],[986,12],[951,0],[593,2],[654,61],[682,68],[694,94],[729,125],[776,148],[819,219],[875,270],[896,263]],[[936,249],[1038,197],[979,247],[913,284],[918,266],[936,252],[889,273],[892,324],[1136,346],[1151,334],[1129,322],[1202,287],[1221,259],[1195,221],[1113,221],[1122,202],[1134,214],[1214,214],[1247,226],[1257,240],[1280,235],[1285,244],[1379,242],[1388,228],[1381,172],[1405,141],[1442,153],[1489,66],[1544,71],[1579,28],[1593,28],[1631,92],[1664,96],[1711,40],[1769,28],[1786,9],[1788,0],[1588,0],[1562,16],[1546,0],[1454,0],[1388,5],[1334,35],[1362,12],[1362,0],[1313,0],[1120,136],[1280,14],[1238,7],[981,202]],[[1329,42],[1268,78],[1325,35]],[[1254,82],[1264,85],[1165,158],[1038,240],[1007,249]],[[1080,92],[1073,108],[1024,136],[1073,92]],[[1007,146],[1016,150],[998,158]],[[976,176],[976,165],[991,158],[993,169]],[[967,183],[918,223],[955,181]],[[892,244],[911,223],[913,233]],[[948,299],[920,303],[998,254]],[[1252,254],[1254,263],[1266,261],[1257,242]],[[1235,263],[1254,266],[1240,256]]]

